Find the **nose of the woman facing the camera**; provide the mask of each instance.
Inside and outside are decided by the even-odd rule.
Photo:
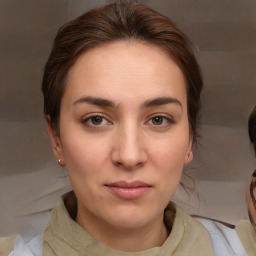
[[[142,134],[136,127],[120,128],[116,134],[112,151],[112,162],[126,170],[145,165],[148,160]]]

